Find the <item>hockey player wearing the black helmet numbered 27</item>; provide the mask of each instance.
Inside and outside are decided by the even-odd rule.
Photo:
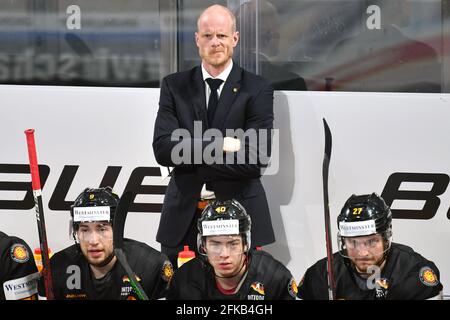
[[[392,213],[377,194],[352,195],[337,218],[339,253],[333,254],[336,299],[439,299],[435,264],[391,242]],[[310,267],[300,299],[328,299],[327,260]]]

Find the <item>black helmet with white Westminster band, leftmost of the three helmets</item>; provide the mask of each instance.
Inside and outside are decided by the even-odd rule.
[[[73,230],[76,231],[81,222],[112,223],[118,203],[119,196],[111,187],[84,189],[70,207]]]

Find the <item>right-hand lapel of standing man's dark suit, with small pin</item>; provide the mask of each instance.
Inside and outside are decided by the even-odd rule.
[[[233,63],[233,68],[231,69],[228,79],[225,81],[222,92],[220,93],[219,103],[217,105],[217,110],[214,114],[211,127],[222,129],[231,106],[241,88],[241,76],[242,69],[236,63]]]

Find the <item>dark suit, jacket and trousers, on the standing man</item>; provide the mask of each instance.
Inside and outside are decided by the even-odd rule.
[[[195,137],[194,121],[201,121],[202,133],[212,127],[220,130],[224,137],[226,129],[272,129],[273,88],[265,79],[233,64],[220,94],[213,122],[209,125],[200,66],[171,74],[162,80],[153,151],[160,165],[175,169],[166,190],[157,241],[168,247],[181,245],[179,242],[195,215],[200,191],[206,183],[208,190],[215,192],[216,198],[234,198],[246,208],[252,218],[252,246],[274,242],[267,199],[260,181],[263,165],[259,162],[192,164],[193,151],[204,150],[210,144],[210,141]],[[171,159],[171,152],[179,143],[172,141],[171,135],[179,128],[186,129],[191,136],[182,140],[183,145],[192,150],[190,164],[176,165]],[[270,140],[269,134],[266,141],[269,150]]]

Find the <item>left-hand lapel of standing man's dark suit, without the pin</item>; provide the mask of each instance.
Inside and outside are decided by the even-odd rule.
[[[188,85],[189,94],[194,107],[195,120],[201,120],[203,128],[208,127],[206,115],[205,82],[202,77],[202,69],[195,67],[191,75],[191,84]]]

